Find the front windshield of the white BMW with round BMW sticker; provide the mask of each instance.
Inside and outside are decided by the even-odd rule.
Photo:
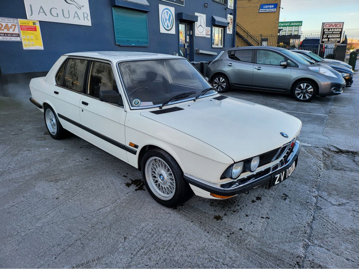
[[[173,101],[195,98],[211,88],[209,82],[186,59],[158,59],[119,63],[125,91],[132,107],[162,105]],[[208,91],[204,96],[214,94]],[[188,95],[186,93],[189,93]]]

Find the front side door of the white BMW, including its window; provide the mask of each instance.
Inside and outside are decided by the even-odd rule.
[[[90,61],[87,85],[80,100],[80,121],[87,141],[127,162],[125,109],[123,105],[99,100],[100,91],[112,90],[118,93],[113,74],[110,62]]]

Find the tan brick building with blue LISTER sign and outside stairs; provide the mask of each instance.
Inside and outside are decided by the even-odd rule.
[[[237,0],[237,47],[276,46],[281,0]]]

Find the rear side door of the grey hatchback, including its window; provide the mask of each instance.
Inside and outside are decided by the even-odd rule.
[[[253,49],[240,49],[228,52],[224,67],[230,81],[237,86],[251,86],[253,76]]]

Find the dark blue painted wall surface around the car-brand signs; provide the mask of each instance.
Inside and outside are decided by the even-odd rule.
[[[44,50],[24,50],[21,42],[0,41],[0,68],[3,74],[48,71],[61,54],[79,51],[145,51],[178,53],[179,12],[206,14],[206,26],[212,26],[212,15],[227,18],[234,10],[213,0],[185,0],[185,6],[160,0],[148,0],[148,47],[120,47],[115,44],[111,0],[89,0],[92,26],[40,21]],[[236,2],[236,1],[234,1]],[[208,3],[208,8],[204,8]],[[158,5],[173,6],[176,13],[176,34],[159,32]],[[23,0],[0,1],[0,17],[27,19]],[[235,16],[234,16],[235,18]],[[234,28],[235,29],[235,28]],[[225,35],[225,47],[232,47],[233,35]],[[194,47],[219,53],[212,48],[212,39],[194,37]],[[216,56],[195,54],[195,61],[211,61]]]

